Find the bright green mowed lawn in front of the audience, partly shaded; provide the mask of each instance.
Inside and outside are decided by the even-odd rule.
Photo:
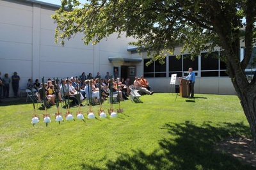
[[[117,118],[54,120],[31,124],[33,104],[0,107],[0,169],[252,169],[214,144],[228,136],[250,136],[236,96],[175,93],[144,95],[143,103],[121,102]],[[103,109],[108,112],[108,102]],[[86,117],[88,106],[81,107]],[[70,112],[76,115],[77,107]],[[114,104],[118,109],[118,104]],[[95,115],[99,105],[93,106]],[[61,109],[64,114],[66,109]],[[75,116],[76,117],[76,116]]]

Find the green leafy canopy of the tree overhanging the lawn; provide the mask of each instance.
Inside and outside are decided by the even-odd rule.
[[[181,53],[192,56],[216,47],[232,48],[243,36],[246,8],[246,1],[241,0],[93,0],[83,6],[76,0],[63,0],[52,19],[58,24],[55,40],[60,38],[61,44],[77,32],[84,33],[85,44],[125,32],[138,39],[132,44],[139,51],[146,49],[148,56],[161,59],[166,55],[163,49],[173,51],[176,45],[182,45]]]

